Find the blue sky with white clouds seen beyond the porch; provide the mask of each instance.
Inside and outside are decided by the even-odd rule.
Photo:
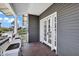
[[[2,12],[0,12],[0,23],[1,27],[11,27],[11,23],[14,21],[14,16],[6,16]],[[22,16],[18,16],[18,24],[22,27]]]

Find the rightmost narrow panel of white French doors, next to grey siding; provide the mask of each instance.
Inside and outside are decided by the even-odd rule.
[[[52,15],[52,50],[55,49],[57,53],[57,12]]]

